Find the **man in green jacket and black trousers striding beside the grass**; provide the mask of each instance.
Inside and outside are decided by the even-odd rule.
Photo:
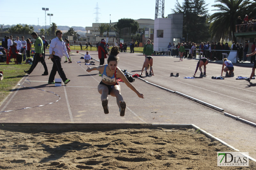
[[[36,54],[34,55],[33,63],[31,65],[30,69],[28,71],[24,70],[24,72],[27,73],[27,74],[31,74],[31,72],[35,69],[37,63],[40,61],[44,66],[44,74],[42,74],[42,75],[46,76],[46,75],[48,75],[48,69],[47,69],[46,63],[44,61],[45,58],[42,55],[42,54],[44,54],[43,40],[40,37],[38,37],[36,32],[32,32],[31,36],[34,39],[36,39],[36,42],[35,42],[35,52],[36,52]]]

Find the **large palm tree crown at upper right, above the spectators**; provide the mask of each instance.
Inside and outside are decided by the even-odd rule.
[[[236,42],[236,19],[248,12],[247,8],[251,2],[249,0],[216,0],[215,2],[220,3],[212,5],[219,8],[213,10],[218,12],[212,14],[208,19],[209,22],[212,22],[210,24],[212,37],[218,40],[229,38]]]

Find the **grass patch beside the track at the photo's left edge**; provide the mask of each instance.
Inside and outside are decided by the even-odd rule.
[[[11,60],[13,61],[13,59]],[[0,81],[0,103],[10,93],[12,88],[20,81],[26,74],[24,70],[28,70],[31,65],[14,64],[13,63],[0,63],[0,71],[3,71],[4,79]]]

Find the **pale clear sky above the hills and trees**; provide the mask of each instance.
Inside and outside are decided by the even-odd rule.
[[[180,3],[183,0],[178,0]],[[125,3],[124,3],[125,2]],[[155,18],[156,0],[129,0],[129,1],[108,1],[108,0],[0,0],[0,24],[16,25],[45,25],[45,11],[42,8],[49,8],[46,11],[46,25],[51,22],[57,26],[92,26],[96,18],[96,5],[99,7],[99,23],[117,22],[121,18]],[[209,13],[214,13],[211,5],[213,0],[205,0]],[[164,16],[172,13],[176,0],[165,0]],[[11,7],[11,8],[10,8]],[[110,16],[111,15],[111,16]]]

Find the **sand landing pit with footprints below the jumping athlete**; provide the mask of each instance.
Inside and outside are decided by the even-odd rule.
[[[256,169],[218,167],[234,152],[195,129],[120,124],[4,124],[0,169]]]

